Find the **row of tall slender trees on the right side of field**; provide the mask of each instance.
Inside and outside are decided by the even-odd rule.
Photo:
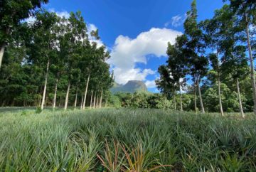
[[[244,117],[240,82],[250,73],[253,112],[256,114],[256,87],[253,60],[255,54],[255,18],[256,4],[247,0],[230,0],[222,9],[216,10],[213,18],[197,21],[196,0],[186,14],[183,23],[184,34],[176,38],[174,45],[168,44],[166,65],[159,67],[157,87],[167,97],[174,97],[180,92],[180,109],[182,107],[182,89],[189,79],[193,82],[194,109],[197,110],[197,94],[201,112],[205,112],[202,98],[202,87],[205,90],[218,87],[218,107],[223,115],[222,82],[233,89],[230,82],[235,82],[238,102]],[[247,62],[249,59],[250,67]],[[210,64],[210,68],[209,68]],[[202,83],[202,80],[205,81]],[[225,86],[224,86],[225,87]],[[208,91],[209,92],[209,91]],[[231,95],[230,95],[231,96]],[[250,97],[248,100],[250,100]],[[250,102],[249,102],[250,104]],[[176,107],[176,105],[174,106]]]

